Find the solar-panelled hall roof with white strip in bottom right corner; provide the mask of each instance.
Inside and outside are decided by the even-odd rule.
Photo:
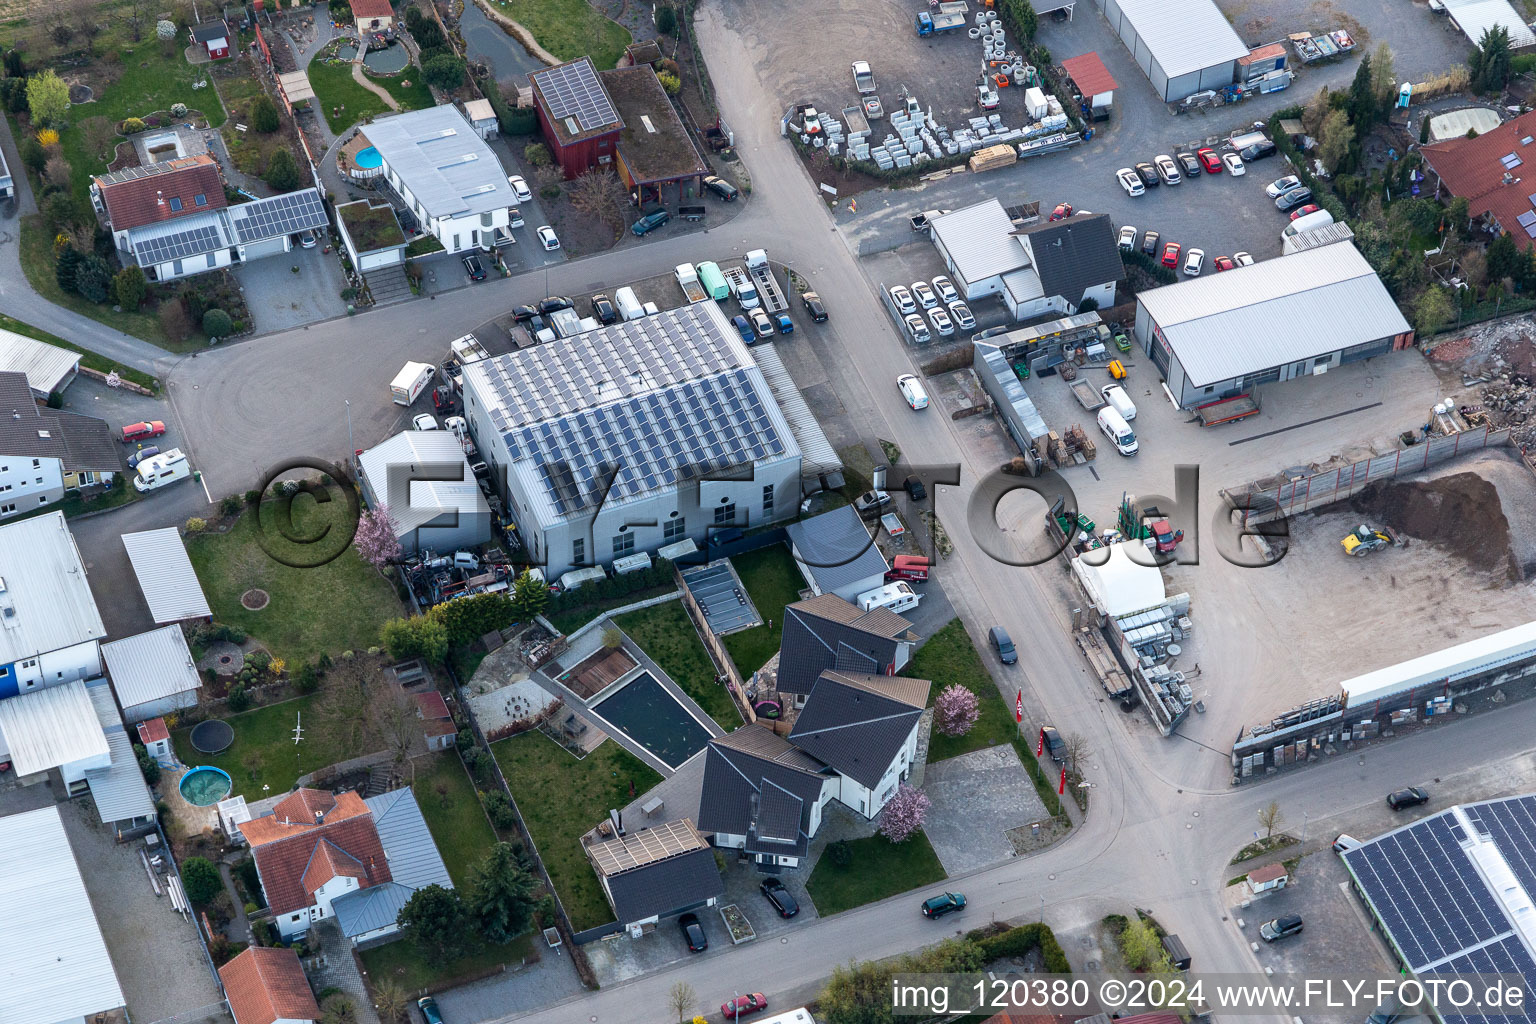
[[[1467,803],[1344,854],[1413,975],[1521,975],[1536,999],[1536,795]],[[1444,1024],[1518,1024],[1530,1012],[1441,1010]]]

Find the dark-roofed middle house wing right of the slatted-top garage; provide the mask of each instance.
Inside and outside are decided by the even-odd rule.
[[[782,735],[748,725],[710,740],[699,827],[743,851],[760,870],[799,867],[839,778]]]

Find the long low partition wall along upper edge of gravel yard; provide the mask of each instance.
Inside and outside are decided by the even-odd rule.
[[[1510,442],[1510,428],[1467,430],[1458,434],[1430,438],[1412,448],[1401,448],[1373,459],[1364,459],[1338,470],[1313,473],[1283,481],[1278,485],[1247,484],[1226,490],[1223,496],[1243,513],[1243,525],[1284,519],[1309,508],[1353,497],[1376,481],[1390,481],[1404,473],[1418,473],[1432,465],[1450,462],[1459,454]]]

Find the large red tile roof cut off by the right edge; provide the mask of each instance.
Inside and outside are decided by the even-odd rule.
[[[1495,235],[1508,232],[1521,249],[1536,239],[1536,112],[1522,114],[1476,138],[1422,146],[1436,195],[1467,198],[1473,218]]]

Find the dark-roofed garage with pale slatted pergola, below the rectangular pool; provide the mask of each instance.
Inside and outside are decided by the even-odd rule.
[[[582,837],[614,920],[642,935],[662,918],[714,906],[725,894],[714,851],[688,818],[613,837],[611,826]]]

